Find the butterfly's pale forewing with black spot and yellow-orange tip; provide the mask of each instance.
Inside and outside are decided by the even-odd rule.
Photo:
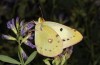
[[[51,21],[46,21],[45,25],[50,26],[58,33],[63,41],[63,48],[77,44],[83,38],[80,32],[68,26]]]

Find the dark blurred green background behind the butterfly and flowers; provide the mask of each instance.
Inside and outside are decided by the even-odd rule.
[[[41,16],[83,34],[83,40],[74,45],[68,65],[100,65],[100,0],[0,0],[0,36],[13,35],[6,26],[12,18],[20,17],[29,22]],[[16,45],[16,42],[0,37],[0,54],[18,59]],[[27,54],[34,51],[25,45],[23,47]],[[38,54],[31,65],[45,65],[44,58]],[[0,61],[0,65],[13,64]]]

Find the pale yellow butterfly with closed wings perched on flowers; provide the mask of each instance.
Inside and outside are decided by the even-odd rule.
[[[35,26],[36,49],[47,57],[61,54],[64,48],[77,44],[82,38],[77,30],[43,18],[39,18]]]

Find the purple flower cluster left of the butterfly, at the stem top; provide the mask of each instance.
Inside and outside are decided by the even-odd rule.
[[[21,44],[25,43],[26,45],[30,46],[31,48],[34,48],[35,46],[28,40],[33,39],[33,34],[27,32],[31,30],[31,28],[34,26],[32,22],[24,23],[24,21],[19,22],[19,18],[17,17],[15,22],[14,19],[8,21],[7,28],[11,29],[15,34],[16,37],[10,36],[10,35],[2,35],[3,38],[7,40],[21,40]]]

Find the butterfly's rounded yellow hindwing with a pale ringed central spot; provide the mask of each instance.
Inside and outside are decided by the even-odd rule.
[[[38,23],[35,30],[35,45],[38,53],[54,57],[63,51],[62,40],[52,28]]]

